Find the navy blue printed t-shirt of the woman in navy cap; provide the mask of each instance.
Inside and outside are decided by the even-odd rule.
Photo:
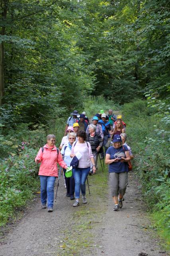
[[[124,147],[124,150],[123,150]],[[110,159],[114,159],[117,157],[124,157],[125,151],[128,151],[127,146],[123,146],[120,148],[113,148],[113,146],[109,147],[106,151],[106,154],[110,155]],[[113,162],[109,164],[109,172],[128,172],[128,164],[127,162]]]

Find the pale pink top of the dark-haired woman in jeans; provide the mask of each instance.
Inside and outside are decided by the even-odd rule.
[[[74,146],[74,144],[76,145]],[[87,146],[88,143],[88,146]],[[82,157],[79,159],[78,168],[87,168],[90,167],[90,158],[94,157],[92,154],[92,149],[89,142],[74,142],[71,149],[71,154],[76,154],[80,152]]]

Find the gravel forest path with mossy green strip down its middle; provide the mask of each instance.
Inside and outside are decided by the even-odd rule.
[[[54,211],[48,213],[39,200],[35,202],[1,241],[0,256],[168,255],[152,238],[154,231],[149,228],[133,172],[119,212],[113,211],[107,187],[96,190],[95,180],[104,179],[103,175],[107,181],[106,170],[88,178],[92,195],[87,194],[88,204],[77,208],[65,196],[61,178]]]

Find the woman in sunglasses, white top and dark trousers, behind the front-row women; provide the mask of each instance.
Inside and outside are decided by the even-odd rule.
[[[68,167],[70,167],[70,162],[72,160],[72,158],[70,158],[70,154],[71,154],[72,144],[74,143],[75,140],[76,140],[76,134],[74,132],[70,132],[68,134],[68,143],[64,144],[61,150],[61,154],[64,156],[64,162]],[[74,186],[75,186],[74,176],[72,174],[71,177],[66,177],[65,175],[66,169],[63,169],[63,171],[64,171],[64,177],[65,177],[66,189],[67,189],[66,196],[70,197],[70,200],[74,200]]]

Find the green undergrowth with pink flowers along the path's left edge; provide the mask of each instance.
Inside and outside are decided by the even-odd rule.
[[[29,130],[26,124],[0,135],[0,226],[14,218],[34,197],[39,186],[34,158],[46,143],[44,126]],[[4,158],[5,157],[5,158]]]

